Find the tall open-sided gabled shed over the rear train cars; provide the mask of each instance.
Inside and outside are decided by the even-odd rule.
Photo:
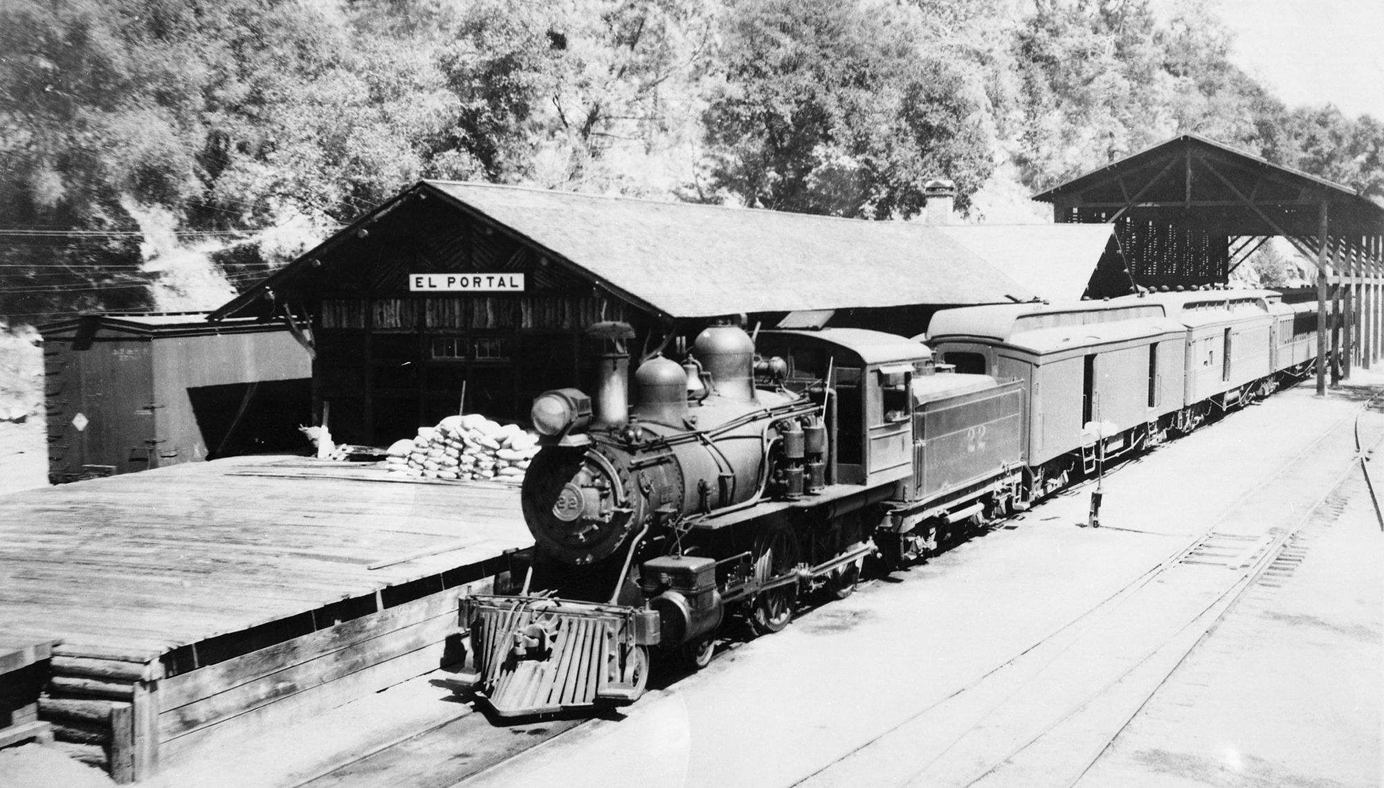
[[[1349,187],[1183,134],[1034,199],[1052,203],[1056,223],[1114,225],[1092,297],[1223,285],[1268,238],[1286,238],[1318,268],[1319,312],[1338,315],[1318,328],[1338,362],[1333,383],[1380,357],[1384,206]]]

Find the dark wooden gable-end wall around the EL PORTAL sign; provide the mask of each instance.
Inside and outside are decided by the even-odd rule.
[[[307,301],[314,400],[340,442],[385,445],[462,406],[525,420],[536,395],[584,383],[587,326],[648,325],[572,267],[436,198],[407,202],[324,257],[342,274]],[[417,274],[518,274],[525,286],[410,292]]]

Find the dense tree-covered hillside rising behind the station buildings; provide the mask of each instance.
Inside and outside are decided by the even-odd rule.
[[[419,177],[981,217],[1196,131],[1384,200],[1378,120],[1229,47],[1208,0],[6,0],[0,317],[151,306],[174,246],[248,283]]]

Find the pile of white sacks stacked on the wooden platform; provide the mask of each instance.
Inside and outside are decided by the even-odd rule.
[[[498,424],[479,413],[447,416],[418,437],[394,441],[389,473],[424,478],[523,481],[538,453],[538,435],[518,424]]]

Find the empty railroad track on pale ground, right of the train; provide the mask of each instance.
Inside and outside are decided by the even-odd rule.
[[[1356,435],[1359,416],[1341,419],[1277,473],[1221,512],[1217,524],[1080,617],[977,680],[958,688],[871,741],[793,782],[804,788],[858,784],[901,787],[1073,788],[1167,683],[1218,621],[1257,583],[1279,585],[1301,561],[1301,529],[1334,520],[1349,474],[1330,480],[1287,528],[1244,534],[1248,520],[1275,506],[1277,481],[1342,433]],[[1384,441],[1372,426],[1370,451]],[[1360,453],[1363,456],[1363,453]],[[1282,485],[1279,485],[1282,487]],[[1230,574],[1233,572],[1233,574]],[[920,753],[927,753],[922,756]]]

